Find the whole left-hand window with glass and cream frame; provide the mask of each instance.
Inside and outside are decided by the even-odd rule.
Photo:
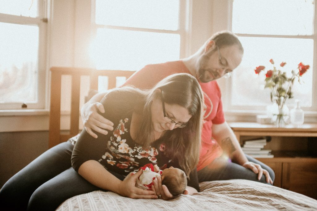
[[[45,1],[0,5],[0,109],[44,108]]]

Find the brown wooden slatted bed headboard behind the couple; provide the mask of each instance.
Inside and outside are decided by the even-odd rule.
[[[50,109],[49,109],[49,148],[68,140],[79,132],[80,81],[81,76],[89,76],[89,89],[98,90],[98,77],[107,76],[108,90],[116,87],[116,77],[129,78],[135,71],[95,70],[89,68],[51,67]],[[69,134],[61,134],[61,78],[71,76],[71,108]]]

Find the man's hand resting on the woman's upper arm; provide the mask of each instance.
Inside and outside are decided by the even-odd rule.
[[[105,113],[103,105],[100,102],[95,102],[87,104],[81,115],[82,122],[84,123],[87,133],[94,138],[97,138],[98,136],[93,132],[93,130],[105,135],[108,134],[107,130],[113,130],[113,122],[98,114],[98,111]]]

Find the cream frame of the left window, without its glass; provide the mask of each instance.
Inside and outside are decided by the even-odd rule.
[[[39,28],[37,102],[26,103],[27,109],[45,109],[46,107],[47,0],[38,0],[37,7],[36,17],[16,16],[0,13],[0,22],[20,25],[33,25],[38,26]],[[17,111],[18,109],[22,109],[23,103],[24,102],[0,103],[0,111]]]

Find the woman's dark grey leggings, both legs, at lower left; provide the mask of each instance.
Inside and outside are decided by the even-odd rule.
[[[0,190],[0,210],[55,210],[70,197],[100,190],[72,168],[73,147],[52,147],[11,177]]]

